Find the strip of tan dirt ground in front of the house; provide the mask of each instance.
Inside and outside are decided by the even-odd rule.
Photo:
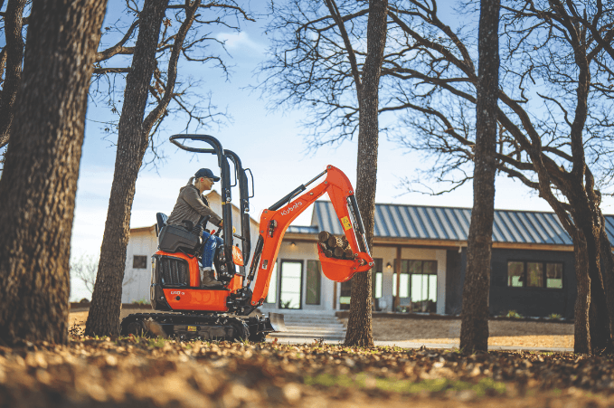
[[[124,308],[121,318],[146,310]],[[85,328],[87,310],[70,314],[71,327]],[[347,320],[344,321],[347,324]],[[490,346],[573,348],[573,325],[550,322],[491,320],[488,324]],[[458,344],[460,320],[374,318],[373,338],[383,341],[409,340],[415,343]]]

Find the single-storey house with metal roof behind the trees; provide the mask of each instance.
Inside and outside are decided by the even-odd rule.
[[[219,211],[214,207],[220,205],[219,195],[210,196]],[[470,218],[468,208],[376,204],[374,308],[460,313]],[[606,216],[606,221],[611,239],[614,216]],[[252,224],[251,239],[256,242],[258,223]],[[349,308],[351,280],[337,283],[321,273],[316,251],[320,231],[342,234],[333,205],[326,201],[314,204],[310,225],[288,227],[263,312]],[[155,251],[153,227],[131,230],[122,301],[148,299],[149,271],[143,269],[146,260],[138,257]],[[573,246],[554,213],[496,210],[491,264],[492,315],[515,310],[524,316],[573,318]]]

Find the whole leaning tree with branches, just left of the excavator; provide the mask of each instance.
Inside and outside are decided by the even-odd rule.
[[[133,5],[128,2],[128,7]],[[147,148],[155,150],[154,135],[169,115],[169,106],[175,103],[188,115],[188,123],[194,120],[200,126],[216,115],[208,111],[201,115],[197,107],[185,104],[185,90],[176,89],[180,59],[184,57],[187,61],[222,63],[219,57],[211,53],[203,54],[200,44],[211,38],[209,33],[199,32],[199,27],[210,24],[230,26],[224,21],[224,17],[228,16],[249,18],[241,7],[231,1],[203,4],[201,0],[192,0],[171,4],[168,0],[145,0],[143,10],[133,8],[133,12],[137,14],[137,20],[129,26],[119,42],[97,55],[97,74],[128,72],[128,75],[117,125],[117,157],[100,249],[99,270],[86,322],[85,332],[92,336],[118,334],[130,213],[137,176]],[[179,24],[175,33],[171,33],[172,21],[165,17],[167,13],[173,13]],[[200,13],[217,15],[213,20],[206,20]],[[129,47],[127,43],[137,27],[137,42],[134,47]],[[162,68],[164,59],[161,56],[166,53],[168,60],[165,68]],[[109,65],[113,56],[126,54],[132,55],[130,67]],[[225,69],[223,64],[222,68]],[[150,110],[146,113],[148,98],[151,98]]]

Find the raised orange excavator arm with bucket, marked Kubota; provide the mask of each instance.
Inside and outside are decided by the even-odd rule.
[[[307,185],[313,184],[324,175],[326,175],[326,179],[322,183],[304,193],[307,190]],[[339,223],[342,225],[345,238],[354,251],[354,260],[327,258],[318,245],[318,256],[323,273],[330,280],[344,282],[350,280],[354,273],[364,272],[373,267],[373,258],[366,243],[363,219],[360,216],[358,204],[356,204],[352,184],[344,172],[335,166],[326,166],[323,173],[307,184],[300,185],[262,213],[260,236],[246,282],[249,288],[254,276],[256,277],[251,296],[252,307],[260,306],[267,297],[271,271],[277,260],[281,240],[289,224],[325,193],[328,193]]]

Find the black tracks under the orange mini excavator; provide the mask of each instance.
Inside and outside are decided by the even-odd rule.
[[[283,318],[282,318],[283,321]],[[185,313],[135,313],[121,321],[121,335],[175,337],[180,340],[264,341],[275,331],[270,318]]]

